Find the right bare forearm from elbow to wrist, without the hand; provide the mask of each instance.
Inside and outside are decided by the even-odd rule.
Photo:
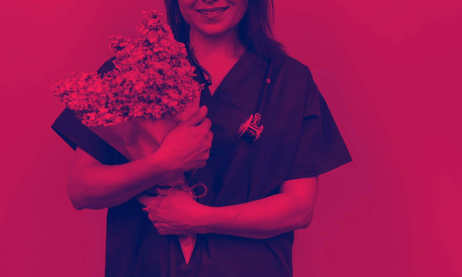
[[[291,193],[225,207],[203,206],[198,233],[266,239],[310,225],[314,201]]]

